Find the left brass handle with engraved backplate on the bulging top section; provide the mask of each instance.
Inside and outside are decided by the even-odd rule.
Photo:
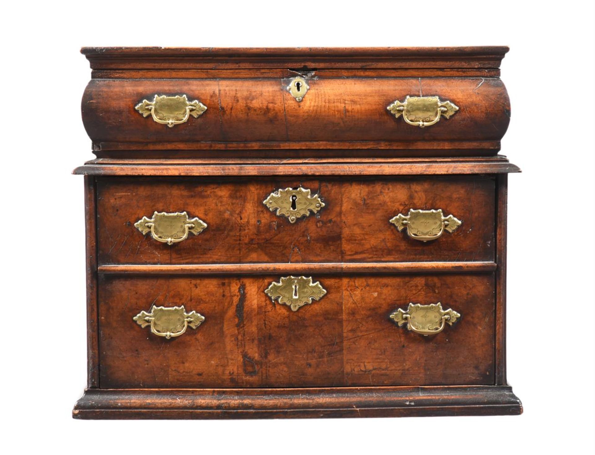
[[[155,95],[153,101],[143,99],[134,109],[139,111],[143,117],[151,115],[157,123],[173,127],[180,123],[186,123],[190,115],[197,118],[206,111],[206,106],[198,99],[188,101],[186,95]]]

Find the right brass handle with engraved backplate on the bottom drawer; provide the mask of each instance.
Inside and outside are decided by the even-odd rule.
[[[409,303],[407,310],[399,308],[390,315],[390,319],[399,327],[406,322],[408,330],[422,335],[440,333],[444,330],[445,323],[453,325],[459,318],[461,315],[455,310],[443,310],[440,302],[431,305]]]

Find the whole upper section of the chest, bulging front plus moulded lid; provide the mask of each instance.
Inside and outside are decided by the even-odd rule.
[[[495,155],[510,118],[499,77],[507,51],[243,49],[240,57],[233,49],[161,49],[142,58],[88,49],[83,123],[99,156],[300,148],[318,150],[309,156]]]

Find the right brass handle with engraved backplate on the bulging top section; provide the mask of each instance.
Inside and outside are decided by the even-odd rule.
[[[458,106],[450,101],[440,101],[437,96],[406,96],[405,101],[394,101],[387,107],[395,118],[403,115],[406,123],[424,128],[440,120],[443,115],[450,118],[459,110]]]

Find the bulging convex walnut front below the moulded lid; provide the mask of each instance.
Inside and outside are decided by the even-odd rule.
[[[84,92],[83,122],[93,142],[193,142],[195,148],[211,147],[201,142],[500,140],[508,128],[508,94],[497,78],[318,77],[307,82],[309,90],[299,102],[286,89],[291,81],[96,79]],[[198,117],[181,115],[187,118],[184,123],[159,123],[159,115],[150,111],[155,95],[186,95],[188,102],[201,103],[201,113],[192,107]],[[409,108],[389,111],[407,96],[439,98],[426,114]],[[440,115],[438,102],[458,110]],[[426,120],[437,115],[439,121],[420,128],[418,114]]]

